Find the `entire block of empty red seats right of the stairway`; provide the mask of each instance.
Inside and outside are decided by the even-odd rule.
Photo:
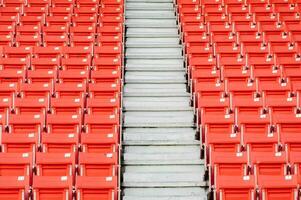
[[[178,0],[214,199],[300,198],[301,1]]]

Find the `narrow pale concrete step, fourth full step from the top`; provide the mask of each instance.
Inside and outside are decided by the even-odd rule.
[[[157,27],[157,28],[127,28],[127,38],[139,38],[139,37],[175,37],[179,38],[179,31],[177,27]]]

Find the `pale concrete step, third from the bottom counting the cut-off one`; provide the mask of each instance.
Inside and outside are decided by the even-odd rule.
[[[124,146],[125,165],[200,165],[200,145]]]

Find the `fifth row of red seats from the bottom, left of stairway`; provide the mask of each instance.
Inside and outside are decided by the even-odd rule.
[[[115,98],[47,98],[29,97],[16,98],[15,96],[0,97],[1,114],[69,114],[81,115],[83,113],[117,113],[119,97]]]

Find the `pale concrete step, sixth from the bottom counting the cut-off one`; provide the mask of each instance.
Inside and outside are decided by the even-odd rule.
[[[192,110],[189,97],[125,97],[123,105],[128,110]]]

